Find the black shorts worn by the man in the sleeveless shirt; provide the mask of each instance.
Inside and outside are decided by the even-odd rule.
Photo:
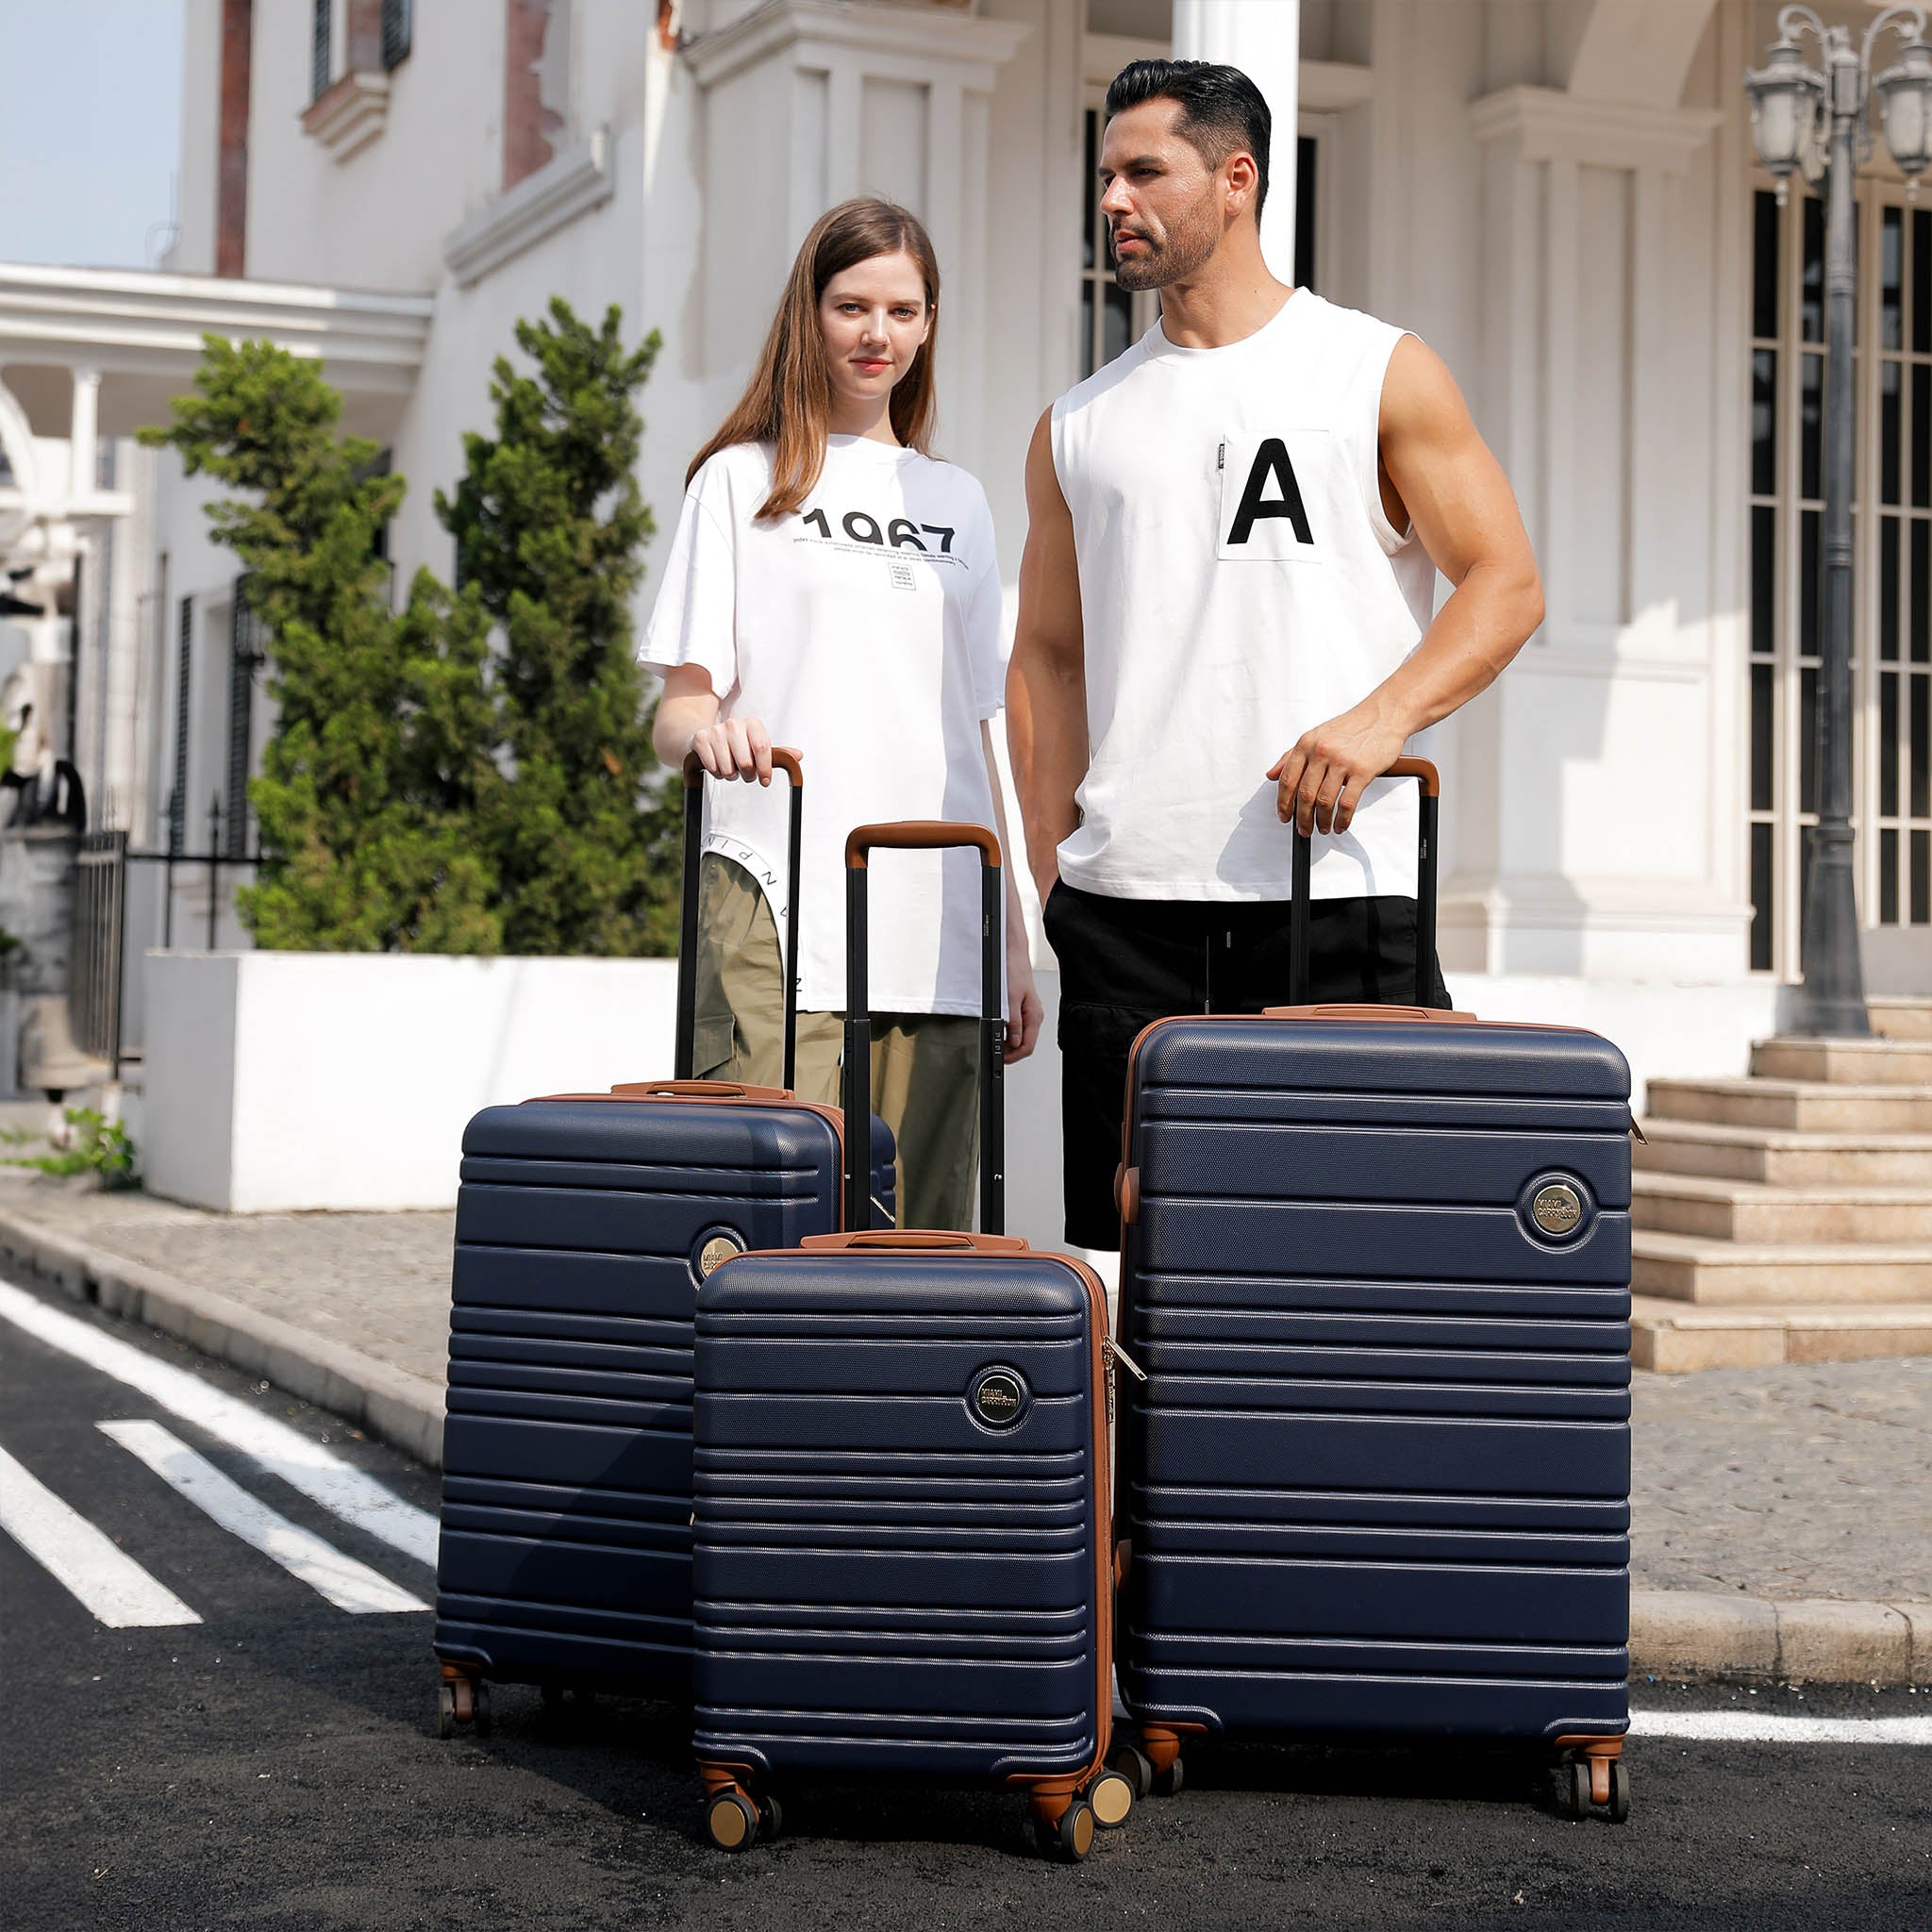
[[[1289,999],[1289,918],[1277,900],[1101,898],[1065,879],[1041,916],[1061,962],[1061,1136],[1066,1238],[1117,1248],[1126,1055],[1153,1020],[1260,1012]],[[1416,1003],[1416,902],[1318,898],[1308,931],[1310,1001]],[[1430,960],[1428,1007],[1447,1007]]]

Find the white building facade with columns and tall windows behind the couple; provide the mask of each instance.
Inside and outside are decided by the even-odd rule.
[[[939,245],[939,442],[987,487],[1010,591],[1037,413],[1155,315],[1105,267],[1105,83],[1177,44],[1240,62],[1277,104],[1294,232],[1271,234],[1271,255],[1443,354],[1544,568],[1538,636],[1432,734],[1443,962],[1490,1010],[1505,987],[1526,1012],[1575,1010],[1594,987],[1596,1010],[1648,1012],[1654,989],[1679,1020],[1627,1032],[1683,1036],[1683,1070],[1741,1070],[1797,972],[1814,804],[1822,236],[1812,197],[1777,209],[1739,87],[1776,12],[187,0],[174,274],[126,280],[184,313],[253,290],[261,327],[290,340],[307,317],[352,425],[410,481],[398,572],[448,576],[433,489],[487,423],[491,359],[520,317],[554,292],[587,315],[620,303],[634,336],[663,332],[641,462],[663,545],[804,230],[844,195],[891,195]],[[1888,166],[1880,149],[1861,184],[1861,914],[1872,989],[1932,991],[1932,213]],[[66,435],[71,396],[48,365],[83,367],[83,352],[37,348],[15,381],[10,288],[0,383],[29,431]],[[242,327],[255,313],[236,305]],[[164,377],[184,386],[191,367],[118,373],[116,355],[100,377],[110,437],[153,419]],[[93,757],[112,769],[97,796],[137,842],[168,837],[174,800],[174,837],[201,844],[216,794],[232,838],[269,723],[257,643],[232,620],[236,564],[207,543],[172,458],[124,462],[147,506],[114,539],[131,657],[124,672],[102,659],[122,696],[93,694],[106,723],[97,752],[79,740],[83,773]],[[643,609],[651,593],[647,580]],[[81,699],[91,715],[85,663]],[[197,891],[191,871],[180,891]],[[184,898],[176,918],[197,927],[201,910]],[[238,937],[230,920],[220,933]],[[1735,1066],[1698,1059],[1716,1036]]]

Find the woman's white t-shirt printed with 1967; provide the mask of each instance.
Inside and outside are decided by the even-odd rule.
[[[844,1010],[844,840],[854,825],[993,825],[980,744],[1005,690],[999,564],[980,483],[954,464],[831,437],[804,506],[761,524],[771,450],[692,477],[639,661],[701,665],[723,717],[763,719],[806,773],[798,1005]],[[707,784],[705,848],[744,866],[784,931],[784,777]],[[871,1005],[980,1010],[978,854],[871,864]]]

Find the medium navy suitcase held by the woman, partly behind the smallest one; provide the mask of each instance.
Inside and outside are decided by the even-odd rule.
[[[796,931],[798,761],[773,761],[792,782]],[[699,784],[694,767],[680,1078],[487,1107],[464,1132],[433,1636],[442,1735],[487,1727],[489,1679],[688,1694],[697,1283],[726,1254],[844,1225],[838,1109],[686,1078]],[[786,1084],[794,1034],[788,999]],[[891,1225],[881,1134],[866,1206]]]

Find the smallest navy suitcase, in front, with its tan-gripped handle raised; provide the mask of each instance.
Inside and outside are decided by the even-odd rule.
[[[869,1061],[864,854],[974,842],[985,883],[987,1233],[858,1233],[744,1254],[697,1296],[696,1747],[717,1845],[794,1776],[1001,1783],[1086,1857],[1119,1824],[1111,1727],[1107,1302],[997,1233],[999,846],[852,835],[846,1099]],[[848,1188],[862,1171],[848,1175]]]

